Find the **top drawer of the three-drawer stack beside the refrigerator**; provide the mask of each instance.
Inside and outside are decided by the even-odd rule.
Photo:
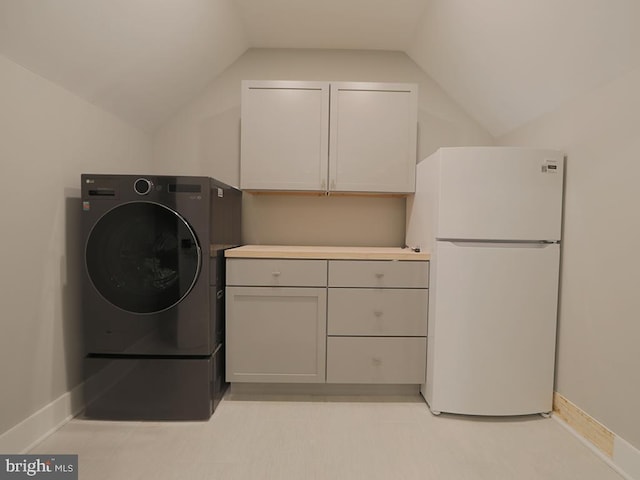
[[[427,288],[429,263],[393,260],[331,260],[330,287]]]

